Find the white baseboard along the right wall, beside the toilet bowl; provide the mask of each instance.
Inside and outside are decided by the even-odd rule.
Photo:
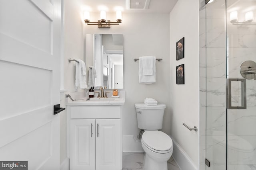
[[[172,138],[172,137],[171,137]],[[172,157],[179,166],[180,170],[198,170],[191,158],[180,147],[180,145],[172,138],[173,153]]]

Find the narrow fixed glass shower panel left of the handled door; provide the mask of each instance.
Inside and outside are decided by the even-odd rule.
[[[226,1],[206,4],[206,170],[226,170]]]

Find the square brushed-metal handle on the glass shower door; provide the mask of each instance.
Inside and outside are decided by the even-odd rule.
[[[233,82],[233,83],[232,83]],[[238,82],[241,82],[240,86]],[[236,87],[237,90],[232,89]],[[240,89],[239,89],[240,88]],[[234,92],[240,92],[234,94]],[[232,95],[234,94],[234,95]],[[227,109],[246,109],[246,79],[244,78],[227,78],[226,79],[226,105]],[[237,103],[237,105],[234,105]]]

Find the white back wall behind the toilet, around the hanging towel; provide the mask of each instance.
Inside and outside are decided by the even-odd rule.
[[[97,20],[91,14],[91,20]],[[115,15],[108,14],[109,18]],[[152,24],[157,21],[157,24]],[[123,34],[124,36],[124,90],[125,104],[122,115],[123,135],[139,133],[134,104],[142,103],[146,97],[154,98],[167,105],[164,115],[163,131],[170,134],[170,51],[169,51],[169,14],[123,14],[120,25],[111,25],[110,29],[99,29],[96,25],[85,25],[85,33]],[[154,55],[162,58],[156,62],[156,83],[138,83],[138,61],[134,58]]]

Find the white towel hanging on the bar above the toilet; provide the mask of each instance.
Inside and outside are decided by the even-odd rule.
[[[148,58],[148,56],[146,56]],[[152,56],[152,75],[144,75],[144,70],[145,74],[150,74],[148,66],[144,68],[146,63],[144,64],[144,57],[140,57],[139,60],[139,83],[144,83],[144,84],[152,84],[156,82],[156,57]]]

